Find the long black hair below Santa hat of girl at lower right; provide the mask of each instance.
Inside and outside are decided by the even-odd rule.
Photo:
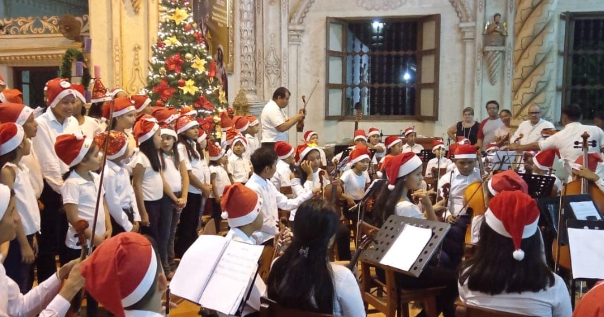
[[[542,257],[539,231],[522,239],[522,261],[512,257],[512,239],[495,232],[484,219],[479,237],[474,257],[461,266],[460,284],[467,283],[468,289],[490,295],[539,292],[554,285],[554,274]]]

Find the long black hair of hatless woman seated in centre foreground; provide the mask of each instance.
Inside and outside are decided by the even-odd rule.
[[[292,227],[293,240],[271,268],[268,297],[289,309],[333,314],[333,273],[327,259],[329,240],[339,216],[327,200],[303,202]]]

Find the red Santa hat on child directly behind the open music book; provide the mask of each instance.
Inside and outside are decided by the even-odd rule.
[[[241,183],[226,185],[220,198],[222,219],[228,219],[231,228],[248,225],[260,214],[262,197]]]

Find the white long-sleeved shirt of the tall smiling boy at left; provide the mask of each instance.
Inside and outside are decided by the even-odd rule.
[[[80,126],[76,118],[69,117],[60,124],[54,116],[52,109],[36,118],[38,132],[32,147],[36,149],[37,157],[40,161],[43,178],[48,182],[54,191],[60,194],[63,185],[63,173],[69,170],[69,166],[63,163],[57,153],[54,152],[54,142],[57,136],[65,133],[79,133]]]

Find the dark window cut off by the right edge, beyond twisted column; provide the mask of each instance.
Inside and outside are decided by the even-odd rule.
[[[578,104],[591,121],[604,110],[604,12],[565,12],[561,106]]]

